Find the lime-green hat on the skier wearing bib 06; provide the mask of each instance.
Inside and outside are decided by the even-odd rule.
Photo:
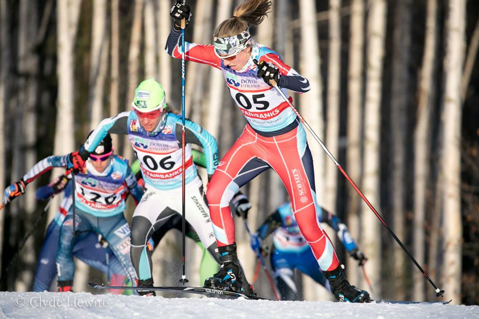
[[[166,108],[165,91],[155,79],[145,80],[136,88],[131,105],[144,113],[163,110]]]

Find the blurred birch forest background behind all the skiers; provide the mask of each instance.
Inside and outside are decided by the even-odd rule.
[[[211,43],[238,0],[188,0],[188,41]],[[164,51],[171,0],[0,0],[0,189],[35,162],[75,151],[101,119],[130,109],[135,87],[159,80],[180,110],[181,62]],[[476,0],[274,0],[253,37],[309,79],[294,103],[431,279],[456,304],[479,303],[479,2]],[[187,116],[218,140],[223,156],[245,125],[220,71],[187,62]],[[133,159],[123,136],[118,154]],[[318,202],[347,223],[369,258],[365,271],[339,241],[352,284],[374,299],[436,300],[378,218],[309,137]],[[27,186],[0,212],[1,290],[31,289],[36,258],[58,199],[12,260],[46,203]],[[205,174],[205,172],[201,172]],[[204,178],[203,180],[206,180]],[[250,229],[288,200],[266,172],[243,187]],[[128,215],[133,206],[130,203]],[[129,219],[129,218],[128,218]],[[237,220],[249,280],[256,264]],[[329,237],[335,234],[327,226]],[[181,277],[181,234],[154,254],[156,285]],[[201,258],[187,240],[187,275],[198,285]],[[7,265],[10,264],[8,269]],[[75,291],[101,274],[77,263]],[[103,277],[102,277],[103,278]],[[297,274],[306,300],[331,297]],[[261,273],[260,296],[273,297]]]

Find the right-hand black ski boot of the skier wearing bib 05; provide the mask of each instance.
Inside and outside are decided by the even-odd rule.
[[[331,292],[338,301],[349,303],[367,303],[370,302],[369,293],[365,290],[359,290],[346,279],[344,275],[344,265],[332,271],[324,271],[324,277],[329,281]]]

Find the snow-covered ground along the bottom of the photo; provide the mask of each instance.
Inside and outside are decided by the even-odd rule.
[[[186,296],[186,295],[184,295]],[[216,298],[163,298],[89,293],[0,292],[1,318],[479,318],[479,306],[346,304]]]

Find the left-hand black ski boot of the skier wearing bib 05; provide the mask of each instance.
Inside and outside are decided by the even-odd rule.
[[[236,243],[218,247],[221,268],[213,277],[205,280],[205,287],[213,289],[243,291],[243,274],[236,253]]]

